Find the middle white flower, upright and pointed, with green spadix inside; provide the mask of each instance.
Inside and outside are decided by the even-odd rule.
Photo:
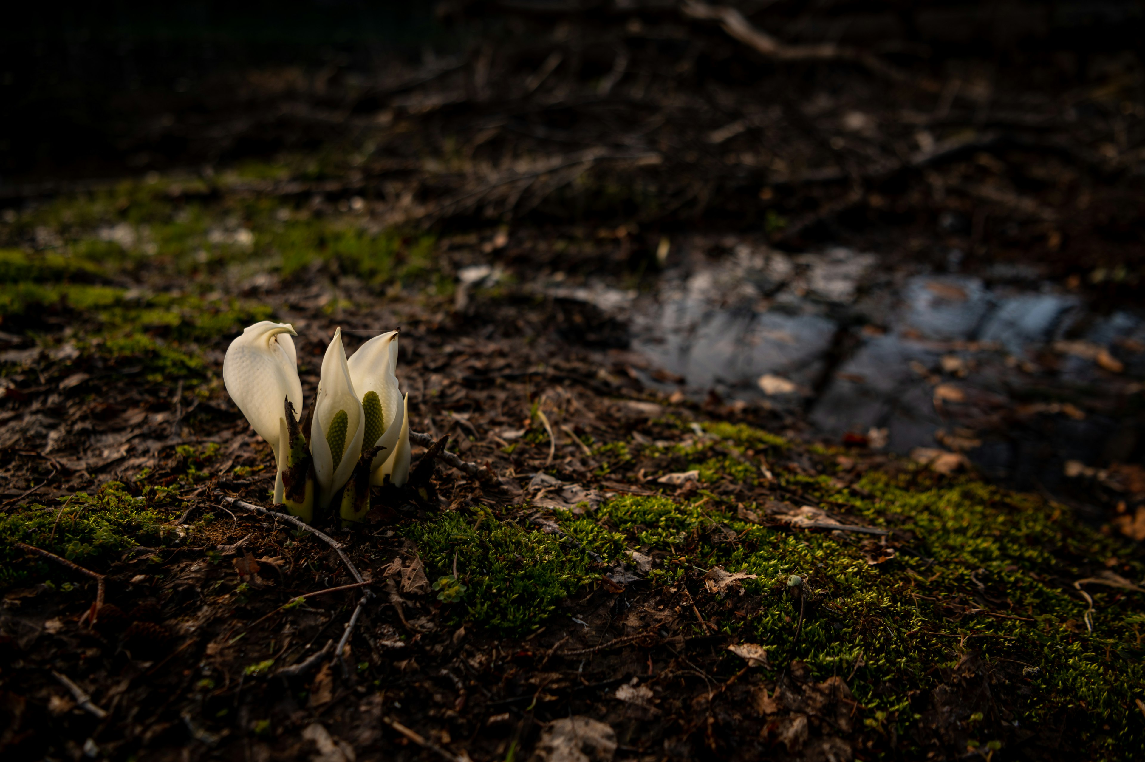
[[[339,328],[322,359],[318,398],[310,424],[310,455],[318,482],[315,504],[319,510],[326,510],[334,493],[349,480],[362,456],[364,435],[365,413],[362,400],[354,392],[342,347],[342,329]]]

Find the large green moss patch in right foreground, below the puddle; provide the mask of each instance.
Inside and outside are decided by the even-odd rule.
[[[1145,684],[1145,594],[1087,586],[1090,633],[1089,606],[1073,586],[1111,569],[1140,580],[1145,569],[1119,561],[1115,542],[1039,497],[970,478],[870,474],[854,492],[826,477],[781,479],[824,508],[893,528],[897,540],[889,550],[870,535],[768,528],[710,496],[626,495],[593,521],[569,518],[562,527],[611,555],[618,542],[661,551],[650,575],[658,584],[713,566],[758,575],[744,583],[745,597],[731,594],[709,621],[764,645],[773,665],[800,659],[816,679],[850,676],[866,716],[897,723],[900,734],[919,718],[941,670],[977,650],[988,662],[1017,665],[1008,708],[1022,724],[1069,717],[1095,749],[1145,749],[1136,706]],[[791,574],[810,591],[798,643]],[[704,634],[698,622],[692,627]]]

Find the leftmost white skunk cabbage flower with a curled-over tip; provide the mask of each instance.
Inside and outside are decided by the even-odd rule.
[[[289,323],[264,320],[243,330],[227,347],[222,380],[254,432],[267,440],[275,454],[275,502],[283,502],[283,459],[281,432],[286,429],[285,406],[294,407],[295,421],[302,409],[302,383],[298,378],[298,355]],[[282,425],[279,425],[279,422]]]

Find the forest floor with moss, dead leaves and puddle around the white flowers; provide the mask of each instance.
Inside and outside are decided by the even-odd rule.
[[[206,83],[125,139],[202,168],[6,189],[5,759],[1145,752],[1139,66],[695,15]],[[244,508],[263,319],[307,401],[400,327],[456,457]]]

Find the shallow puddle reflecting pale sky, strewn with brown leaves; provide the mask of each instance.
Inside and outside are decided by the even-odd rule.
[[[1068,492],[1067,461],[1142,461],[1142,316],[1028,274],[910,275],[846,249],[740,244],[666,272],[655,294],[576,291],[629,322],[664,390],[678,376],[696,399],[806,411],[828,437],[961,451],[1027,489]]]

